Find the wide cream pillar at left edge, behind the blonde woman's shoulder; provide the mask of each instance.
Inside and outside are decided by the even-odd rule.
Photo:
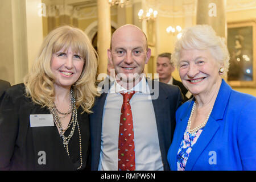
[[[0,78],[23,82],[43,40],[40,0],[0,1]]]

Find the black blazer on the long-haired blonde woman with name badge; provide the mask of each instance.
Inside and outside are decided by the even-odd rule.
[[[0,171],[1,170],[75,170],[80,166],[77,126],[69,141],[69,154],[55,126],[30,127],[30,114],[50,114],[47,108],[33,104],[24,96],[24,84],[7,89],[0,106]],[[89,147],[88,114],[77,110],[81,142],[82,168]],[[68,133],[71,127],[68,129]],[[66,134],[67,136],[67,134]],[[45,152],[46,164],[38,162]]]

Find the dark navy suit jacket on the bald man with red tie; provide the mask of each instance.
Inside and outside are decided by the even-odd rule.
[[[108,84],[106,84],[108,82]],[[152,100],[152,104],[155,111],[156,126],[158,130],[158,139],[160,152],[162,155],[164,170],[169,170],[167,162],[167,152],[171,145],[172,136],[175,129],[175,111],[180,106],[182,96],[180,89],[174,85],[164,84],[158,81],[147,81],[150,87],[150,93],[159,94],[156,100]],[[110,88],[110,83],[105,80],[105,84]],[[159,89],[156,89],[159,85]],[[104,88],[105,89],[105,88]],[[106,90],[106,89],[105,89]],[[155,91],[154,91],[155,90]],[[156,93],[158,92],[159,93]],[[102,130],[102,114],[108,93],[102,93],[97,98],[93,107],[93,114],[90,114],[90,134],[91,134],[91,146],[92,146],[92,170],[98,170],[98,164],[100,162],[101,152],[101,130]]]

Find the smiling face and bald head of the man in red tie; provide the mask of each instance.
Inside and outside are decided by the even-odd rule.
[[[137,80],[150,56],[151,50],[147,49],[146,38],[137,27],[123,26],[114,32],[108,57],[118,78],[125,82]]]

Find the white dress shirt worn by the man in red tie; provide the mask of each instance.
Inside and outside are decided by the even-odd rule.
[[[115,81],[106,97],[102,118],[101,153],[99,170],[118,169],[118,135],[123,96],[121,91],[137,91],[130,100],[133,114],[135,170],[163,170],[158,131],[150,89],[146,78],[130,90],[122,88]]]

